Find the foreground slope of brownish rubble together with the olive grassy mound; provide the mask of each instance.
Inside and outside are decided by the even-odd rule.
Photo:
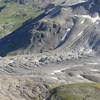
[[[28,77],[0,77],[1,100],[99,100],[100,84],[36,83]]]

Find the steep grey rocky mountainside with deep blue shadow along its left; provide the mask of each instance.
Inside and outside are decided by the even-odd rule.
[[[98,4],[99,1],[90,0],[73,5],[48,5],[39,16],[0,39],[0,55],[49,50],[74,55],[100,52]]]

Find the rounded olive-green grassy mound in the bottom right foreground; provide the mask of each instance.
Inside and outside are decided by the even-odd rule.
[[[50,100],[100,100],[100,84],[78,83],[55,88]]]

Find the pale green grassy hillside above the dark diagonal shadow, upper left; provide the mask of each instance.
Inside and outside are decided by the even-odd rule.
[[[19,5],[15,2],[4,3],[0,1],[0,6],[6,5],[0,12],[0,37],[11,33],[21,24],[31,17],[36,17],[40,11],[28,5]]]

